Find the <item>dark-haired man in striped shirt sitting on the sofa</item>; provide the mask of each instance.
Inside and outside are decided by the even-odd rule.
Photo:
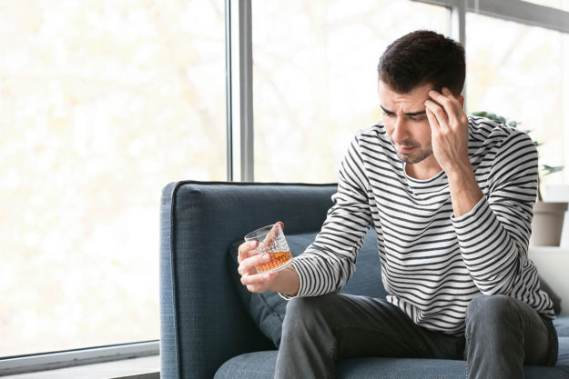
[[[471,378],[522,378],[554,364],[552,301],[527,258],[537,184],[532,140],[462,106],[462,45],[429,31],[381,55],[383,121],[362,130],[340,166],[320,234],[288,268],[257,274],[239,248],[249,291],[291,299],[277,378],[334,376],[340,357],[463,359]],[[369,225],[387,299],[337,294]]]

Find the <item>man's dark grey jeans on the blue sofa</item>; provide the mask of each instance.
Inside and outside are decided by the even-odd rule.
[[[385,300],[327,294],[290,300],[275,378],[333,378],[339,358],[464,359],[469,378],[523,378],[523,364],[553,365],[551,321],[504,295],[474,298],[465,336],[429,331]]]

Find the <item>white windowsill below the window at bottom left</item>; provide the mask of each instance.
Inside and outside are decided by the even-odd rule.
[[[159,379],[160,355],[123,359],[103,364],[84,364],[39,372],[42,379]],[[36,373],[4,376],[7,379],[32,379]]]

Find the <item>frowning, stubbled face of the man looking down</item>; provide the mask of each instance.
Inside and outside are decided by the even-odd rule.
[[[425,100],[432,85],[420,85],[407,94],[398,94],[380,81],[383,125],[397,156],[408,164],[418,164],[432,155],[431,125],[425,114]]]

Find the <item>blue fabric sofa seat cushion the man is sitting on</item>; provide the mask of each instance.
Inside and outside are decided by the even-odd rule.
[[[560,353],[569,354],[569,338],[560,341]],[[566,341],[565,341],[566,340]],[[563,350],[563,352],[562,352]],[[242,354],[219,367],[215,379],[272,378],[277,351]],[[566,379],[569,362],[554,367],[525,366],[526,379]],[[352,358],[340,359],[336,364],[336,377],[391,378],[391,379],[455,379],[466,377],[466,361],[416,358]]]

